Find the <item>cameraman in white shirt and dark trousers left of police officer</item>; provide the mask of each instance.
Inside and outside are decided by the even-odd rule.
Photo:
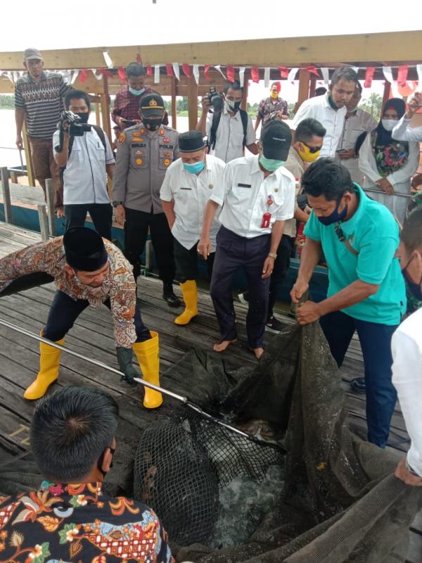
[[[60,175],[63,175],[65,229],[83,227],[87,213],[96,232],[111,240],[113,208],[107,191],[107,175],[113,178],[115,159],[108,138],[100,127],[85,125],[91,113],[89,96],[84,91],[70,90],[65,108],[80,121],[69,125],[63,121],[53,134],[53,153]],[[89,130],[84,130],[90,127]],[[77,132],[82,134],[75,134]]]

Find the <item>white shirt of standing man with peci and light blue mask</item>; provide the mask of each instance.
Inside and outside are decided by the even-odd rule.
[[[188,250],[200,238],[205,205],[217,186],[224,184],[225,166],[216,156],[207,155],[205,167],[198,175],[187,172],[181,158],[167,168],[160,198],[163,201],[174,201],[176,220],[172,234]],[[212,252],[215,252],[215,237],[219,227],[219,220],[215,218],[210,228]]]

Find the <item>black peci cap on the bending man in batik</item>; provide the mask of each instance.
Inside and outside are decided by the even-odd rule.
[[[100,270],[108,260],[103,239],[88,227],[71,227],[63,236],[66,262],[80,272]]]

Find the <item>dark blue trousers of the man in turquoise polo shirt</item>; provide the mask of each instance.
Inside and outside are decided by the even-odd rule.
[[[391,337],[397,325],[360,321],[341,311],[324,315],[319,323],[338,367],[343,364],[350,340],[357,331],[364,356],[368,440],[385,448],[397,400],[391,382]]]

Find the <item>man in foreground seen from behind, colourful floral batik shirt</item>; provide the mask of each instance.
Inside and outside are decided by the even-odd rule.
[[[156,514],[102,491],[118,414],[109,393],[84,386],[37,405],[31,448],[46,481],[39,491],[0,498],[1,563],[174,563]]]

